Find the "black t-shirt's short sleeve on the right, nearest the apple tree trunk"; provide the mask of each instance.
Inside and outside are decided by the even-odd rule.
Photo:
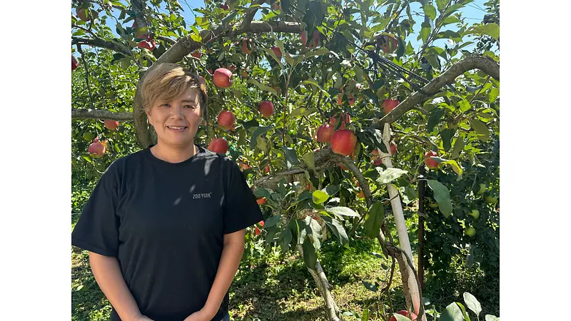
[[[246,178],[238,165],[231,160],[226,160],[230,168],[226,188],[225,202],[223,206],[224,234],[234,233],[248,228],[263,220],[262,211],[256,202],[256,196],[252,193]]]

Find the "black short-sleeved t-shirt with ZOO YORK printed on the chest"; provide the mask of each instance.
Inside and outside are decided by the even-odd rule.
[[[201,310],[223,235],[263,220],[236,162],[198,146],[181,163],[149,148],[114,161],[98,180],[71,244],[118,258],[143,315],[182,321]],[[228,311],[228,292],[213,321]],[[119,321],[116,311],[111,320]]]

